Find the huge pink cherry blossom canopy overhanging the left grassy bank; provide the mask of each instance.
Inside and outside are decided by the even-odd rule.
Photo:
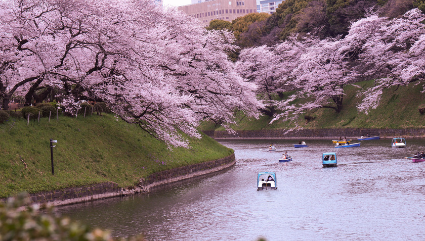
[[[102,100],[125,121],[182,147],[188,147],[182,133],[200,137],[202,119],[228,127],[236,111],[258,117],[262,108],[256,86],[227,58],[231,33],[206,31],[177,9],[136,0],[21,0],[1,7],[4,36],[22,56],[3,64],[2,72],[14,74],[2,79],[4,97],[21,88],[30,100],[37,88],[53,86],[64,92],[61,104],[71,114],[80,100]]]

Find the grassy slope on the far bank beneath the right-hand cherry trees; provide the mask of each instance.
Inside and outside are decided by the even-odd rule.
[[[357,83],[362,88],[372,86],[373,81]],[[344,98],[343,110],[336,113],[331,109],[318,109],[304,113],[294,121],[277,120],[270,124],[273,119],[262,116],[258,120],[247,120],[240,116],[239,121],[233,126],[236,130],[262,130],[262,129],[289,129],[295,126],[307,129],[321,128],[425,128],[425,115],[419,113],[418,108],[425,107],[425,94],[421,93],[422,85],[410,84],[409,86],[396,86],[384,90],[380,105],[371,109],[368,114],[359,112],[356,106],[361,99],[356,96],[358,87],[347,86]],[[303,100],[297,102],[302,103]],[[305,115],[314,119],[307,122]],[[204,123],[201,129],[224,130],[212,124]]]

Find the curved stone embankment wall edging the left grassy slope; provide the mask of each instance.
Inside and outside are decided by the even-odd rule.
[[[169,183],[227,169],[233,166],[235,162],[235,155],[232,154],[228,157],[218,160],[153,173],[147,178],[140,179],[139,186],[133,188],[122,188],[119,187],[116,183],[105,182],[94,185],[37,192],[35,194],[30,194],[30,201],[31,203],[61,206],[89,202],[104,198],[145,193],[153,189],[163,187]]]

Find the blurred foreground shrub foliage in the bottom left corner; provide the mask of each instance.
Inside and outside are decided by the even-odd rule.
[[[53,207],[41,213],[39,205],[28,205],[27,194],[0,202],[0,240],[114,240],[109,231],[92,229],[86,225],[60,217],[53,213]],[[142,241],[143,237],[130,237],[127,241]]]

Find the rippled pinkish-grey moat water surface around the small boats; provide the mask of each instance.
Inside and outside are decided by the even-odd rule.
[[[420,240],[425,238],[424,163],[404,157],[424,140],[362,141],[333,148],[330,140],[222,140],[235,150],[231,169],[149,195],[65,206],[58,212],[115,236],[148,240]],[[268,152],[273,142],[276,152]],[[279,163],[287,151],[292,162]],[[336,152],[338,167],[322,168]],[[257,191],[257,173],[277,174],[277,190]]]

